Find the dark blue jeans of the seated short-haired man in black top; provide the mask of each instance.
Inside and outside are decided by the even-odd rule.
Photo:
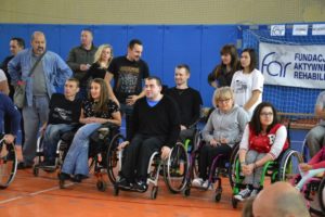
[[[47,130],[44,132],[44,139],[43,139],[44,161],[54,162],[60,137],[64,132],[69,131],[73,128],[74,128],[73,125],[67,125],[67,124],[47,126]]]

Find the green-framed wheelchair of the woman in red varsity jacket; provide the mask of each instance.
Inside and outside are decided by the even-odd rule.
[[[244,175],[240,171],[239,152],[233,153],[231,156],[231,169],[230,169],[230,183],[233,188],[232,206],[237,207],[238,200],[234,197],[242,189],[245,188]],[[283,151],[281,155],[274,162],[268,162],[263,166],[263,173],[260,179],[260,188],[262,189],[265,182],[265,178],[270,177],[271,183],[275,181],[287,181],[292,178],[294,175],[299,173],[298,165],[303,162],[300,152],[290,148]],[[260,190],[261,190],[260,189]]]

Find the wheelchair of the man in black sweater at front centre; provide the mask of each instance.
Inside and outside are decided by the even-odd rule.
[[[107,153],[107,174],[109,180],[114,183],[114,195],[118,195],[119,191],[133,191],[139,192],[134,189],[123,189],[119,187],[116,182],[117,177],[120,173],[122,165],[122,152],[119,151],[118,144],[125,141],[121,135],[116,136],[108,148]],[[148,166],[147,166],[147,180],[146,183],[152,186],[151,199],[155,200],[158,194],[158,179],[159,175],[164,176],[164,180],[168,189],[172,193],[178,193],[183,191],[186,184],[186,174],[188,167],[187,153],[184,145],[178,142],[172,149],[166,161],[160,158],[160,152],[156,151],[152,154]],[[144,193],[148,190],[141,191]]]

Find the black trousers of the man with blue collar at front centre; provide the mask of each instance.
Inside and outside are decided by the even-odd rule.
[[[160,152],[164,138],[135,135],[123,152],[120,175],[129,182],[145,181],[150,158],[155,151]]]

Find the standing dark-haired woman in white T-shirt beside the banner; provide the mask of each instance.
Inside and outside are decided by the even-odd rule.
[[[235,94],[235,103],[247,111],[249,118],[255,107],[262,102],[264,77],[256,69],[257,58],[253,49],[247,48],[240,56],[242,69],[232,79],[231,87]]]

